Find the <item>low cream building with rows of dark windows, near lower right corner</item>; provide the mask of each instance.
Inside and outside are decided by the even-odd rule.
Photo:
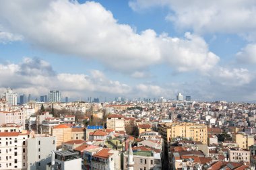
[[[228,155],[230,162],[250,161],[250,151],[242,148],[229,148]]]

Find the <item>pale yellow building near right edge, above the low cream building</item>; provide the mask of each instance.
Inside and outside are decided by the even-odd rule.
[[[249,149],[249,146],[254,144],[253,136],[245,133],[232,134],[232,140],[236,142],[239,148]]]

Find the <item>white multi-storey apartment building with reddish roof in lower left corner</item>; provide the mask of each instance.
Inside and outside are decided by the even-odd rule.
[[[0,132],[0,169],[27,169],[27,131]]]

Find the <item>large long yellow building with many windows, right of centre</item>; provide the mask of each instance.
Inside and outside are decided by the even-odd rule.
[[[172,138],[188,138],[207,144],[207,126],[205,124],[193,123],[164,123],[158,124],[158,132],[168,144]]]

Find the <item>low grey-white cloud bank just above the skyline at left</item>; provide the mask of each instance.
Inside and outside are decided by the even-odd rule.
[[[30,67],[32,65],[35,67]],[[0,65],[0,79],[0,87],[13,87],[19,93],[34,95],[47,94],[51,89],[59,89],[69,97],[117,95],[131,91],[129,85],[109,80],[100,71],[94,70],[91,75],[58,74],[49,63],[38,58],[24,58],[19,64]]]

